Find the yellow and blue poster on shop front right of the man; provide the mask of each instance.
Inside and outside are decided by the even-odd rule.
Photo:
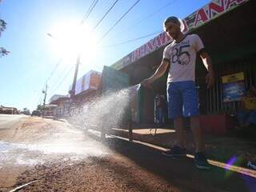
[[[222,77],[223,102],[240,101],[246,95],[244,74],[230,74]]]

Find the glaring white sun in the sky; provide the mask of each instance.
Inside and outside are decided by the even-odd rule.
[[[62,58],[81,58],[90,60],[97,54],[96,38],[90,27],[72,20],[58,22],[48,36],[52,39],[54,52]]]

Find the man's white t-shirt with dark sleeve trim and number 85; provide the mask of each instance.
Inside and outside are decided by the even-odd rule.
[[[204,48],[197,34],[188,34],[181,42],[175,40],[166,46],[163,58],[170,61],[168,82],[194,81],[195,60]]]

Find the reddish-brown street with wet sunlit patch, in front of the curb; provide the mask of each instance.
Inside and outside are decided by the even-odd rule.
[[[254,177],[162,149],[78,130],[67,122],[0,115],[0,191],[255,191]]]

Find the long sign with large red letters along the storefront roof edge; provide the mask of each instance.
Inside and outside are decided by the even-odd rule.
[[[249,0],[212,0],[200,10],[197,10],[193,14],[190,14],[188,17],[182,19],[182,24],[184,26],[182,32],[187,33],[190,30],[198,28],[199,26],[210,22],[214,18],[217,18],[218,16],[225,14],[226,12],[233,10],[235,7],[248,1]],[[168,37],[165,32],[162,32],[162,34],[158,34],[157,37],[151,39],[150,42],[146,42],[146,44],[140,46],[137,50],[134,50],[132,53],[126,55],[126,57],[120,59],[118,62],[115,62],[112,67],[117,70],[122,69],[139,58],[158,50],[159,47],[166,46],[166,44],[171,41],[172,39]]]

